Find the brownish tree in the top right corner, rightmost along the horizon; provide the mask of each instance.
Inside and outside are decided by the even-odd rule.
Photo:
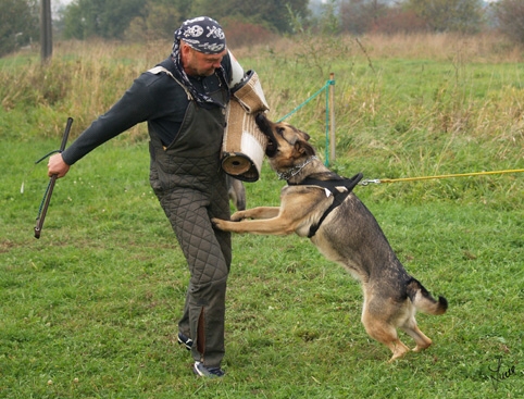
[[[499,29],[511,40],[524,45],[524,2],[500,0],[492,7]]]

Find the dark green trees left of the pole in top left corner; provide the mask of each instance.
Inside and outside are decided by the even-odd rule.
[[[0,2],[0,57],[39,40],[38,0]]]

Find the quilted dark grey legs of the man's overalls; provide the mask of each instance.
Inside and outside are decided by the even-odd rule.
[[[213,229],[219,216],[216,198],[189,189],[175,189],[161,199],[191,274],[179,331],[194,339],[191,353],[204,365],[220,366],[224,357],[227,275],[232,259],[230,235]],[[228,214],[228,199],[225,196]],[[228,216],[227,216],[228,217]]]

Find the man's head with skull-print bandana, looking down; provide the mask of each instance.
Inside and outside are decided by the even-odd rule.
[[[224,30],[209,16],[187,20],[175,32],[173,50],[173,55],[179,55],[186,74],[210,76],[221,66],[222,58],[227,53]]]

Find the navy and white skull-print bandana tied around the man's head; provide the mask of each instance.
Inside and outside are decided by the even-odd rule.
[[[197,91],[195,86],[189,80],[184,67],[180,63],[180,40],[184,40],[192,49],[203,52],[205,54],[217,54],[226,48],[226,38],[222,26],[216,21],[209,16],[199,16],[192,20],[187,20],[182,26],[175,30],[175,40],[173,42],[173,50],[171,52],[175,67],[182,78],[182,83],[192,95],[192,98],[201,104],[217,104],[222,108],[225,105],[216,102],[211,97]],[[219,78],[225,82],[224,68],[216,70]]]

